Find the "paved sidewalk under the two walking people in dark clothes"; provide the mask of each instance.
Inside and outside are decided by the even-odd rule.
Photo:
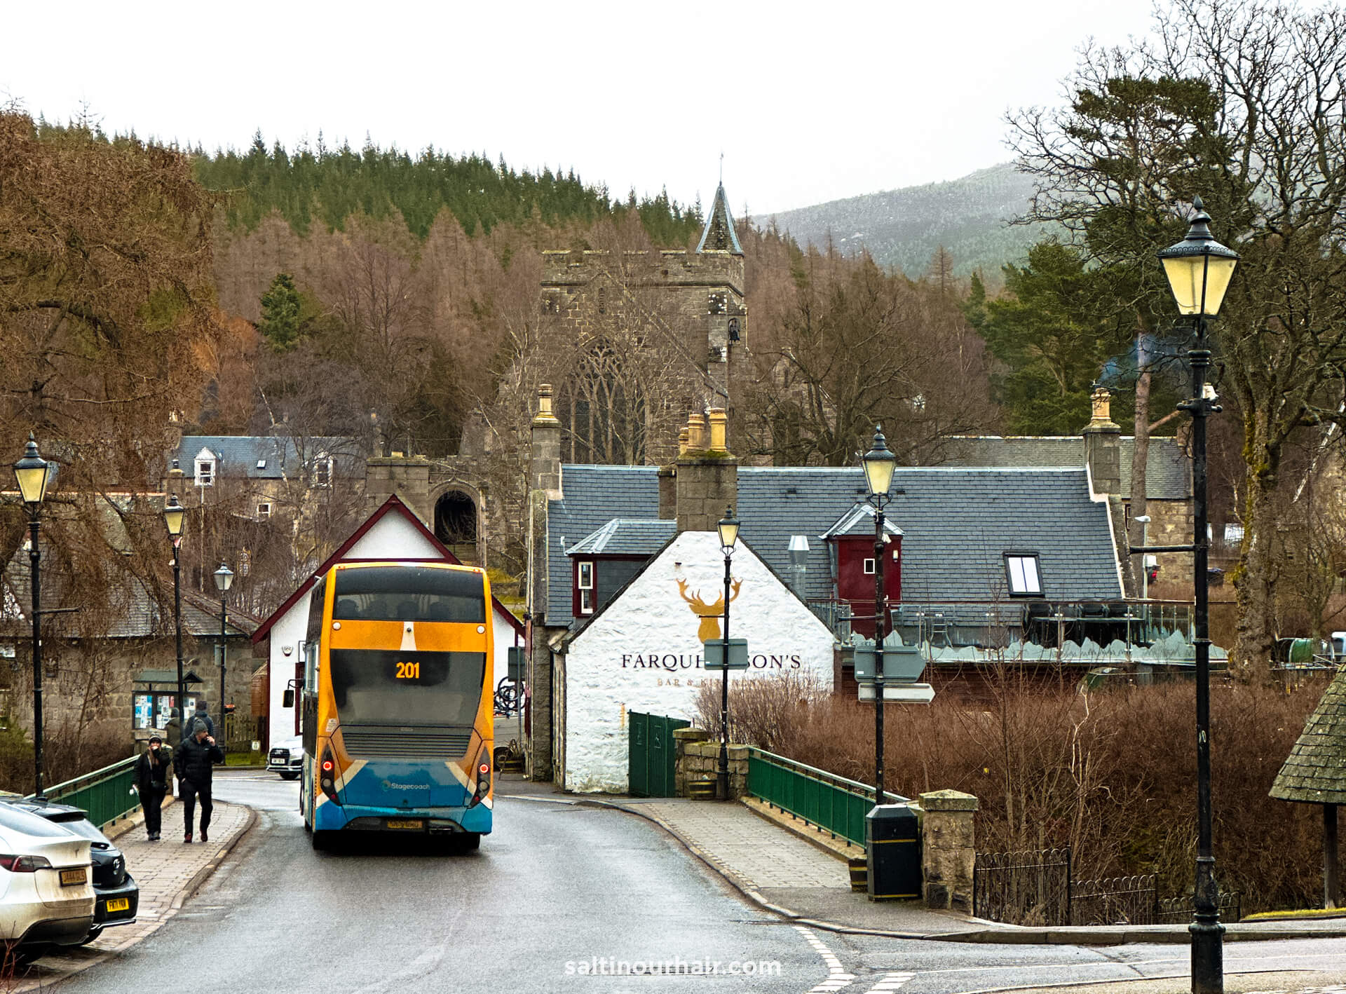
[[[256,815],[250,808],[217,800],[210,823],[210,842],[202,843],[198,835],[198,841],[190,846],[182,841],[182,806],[176,802],[164,807],[160,842],[145,839],[144,815],[136,815],[117,826],[109,837],[125,854],[127,869],[140,886],[136,924],[109,928],[87,946],[43,956],[13,990],[27,991],[55,983],[157,931],[206,881],[254,820]]]

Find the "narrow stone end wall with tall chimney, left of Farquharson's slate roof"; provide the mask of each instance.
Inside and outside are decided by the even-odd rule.
[[[552,413],[552,387],[537,389],[530,430],[528,484],[528,682],[530,689],[529,776],[552,779],[552,650],[546,644],[546,504],[561,499],[561,422]]]

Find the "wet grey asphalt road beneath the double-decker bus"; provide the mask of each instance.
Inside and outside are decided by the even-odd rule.
[[[405,838],[315,853],[296,784],[225,773],[215,792],[260,811],[249,838],[164,928],[62,983],[63,993],[1189,989],[1183,946],[968,946],[800,928],[616,811],[502,798],[478,853]],[[1225,952],[1230,993],[1346,979],[1346,940],[1230,943]],[[619,963],[688,972],[612,975]],[[721,972],[697,975],[705,963]]]

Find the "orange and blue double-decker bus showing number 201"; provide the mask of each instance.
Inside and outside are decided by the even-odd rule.
[[[314,586],[304,663],[300,812],[336,833],[491,830],[490,582],[481,569],[350,562]]]

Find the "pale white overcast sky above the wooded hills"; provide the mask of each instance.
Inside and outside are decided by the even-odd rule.
[[[1088,38],[1148,0],[15,3],[0,98],[207,149],[343,139],[503,155],[736,214],[1005,161]]]

